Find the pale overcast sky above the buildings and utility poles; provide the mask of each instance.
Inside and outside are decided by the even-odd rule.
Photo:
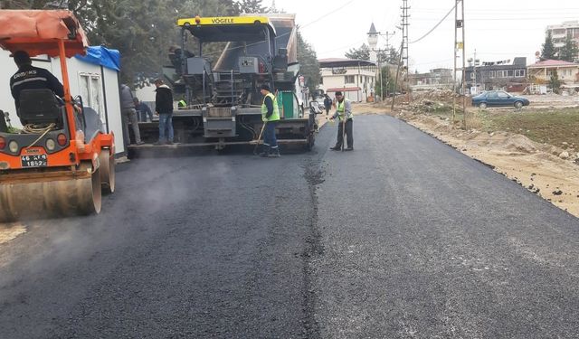
[[[535,62],[535,53],[545,42],[546,26],[579,20],[577,0],[479,0],[464,1],[466,60],[503,61],[527,57]],[[455,0],[408,0],[408,48],[411,71],[453,67]],[[264,0],[263,5],[271,5]],[[380,33],[394,33],[389,43],[400,47],[402,0],[275,0],[278,9],[296,14],[300,32],[318,54],[318,58],[343,58],[351,48],[367,44],[367,32],[374,23]],[[460,9],[460,8],[459,8]],[[419,42],[432,27],[451,14]],[[460,41],[460,35],[459,35]],[[384,49],[386,38],[378,40]],[[459,56],[461,52],[459,52]],[[460,67],[462,60],[457,60]]]

